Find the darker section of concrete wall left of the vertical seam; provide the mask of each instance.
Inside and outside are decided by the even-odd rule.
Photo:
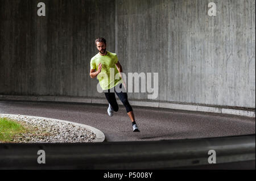
[[[98,36],[114,52],[113,1],[4,0],[0,8],[0,94],[95,96],[89,61]]]

